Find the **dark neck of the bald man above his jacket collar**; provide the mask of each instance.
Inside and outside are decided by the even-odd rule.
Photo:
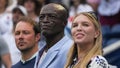
[[[61,40],[61,38],[63,38],[63,36],[64,36],[64,32],[61,32],[61,33],[53,35],[53,36],[46,37],[47,44],[46,44],[45,51],[47,51],[49,48],[51,48],[59,40]]]

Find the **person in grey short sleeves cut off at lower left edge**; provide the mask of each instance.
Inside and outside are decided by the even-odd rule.
[[[11,68],[9,48],[5,40],[0,35],[0,68],[2,68],[2,64],[5,68]]]

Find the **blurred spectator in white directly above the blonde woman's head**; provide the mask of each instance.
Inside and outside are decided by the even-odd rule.
[[[86,3],[86,0],[71,0],[71,7],[69,10],[70,22],[76,14],[88,11],[93,11],[93,9],[90,5]]]

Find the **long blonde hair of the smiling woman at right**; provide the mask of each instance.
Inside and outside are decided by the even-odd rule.
[[[91,58],[93,58],[96,55],[102,55],[102,32],[101,32],[101,25],[97,19],[97,17],[93,14],[93,12],[83,12],[74,17],[78,17],[79,15],[85,15],[88,17],[94,24],[95,29],[99,31],[99,36],[95,39],[95,44],[93,48],[83,57],[80,62],[76,63],[73,68],[86,68],[88,62],[90,62]],[[73,21],[74,21],[73,19]],[[65,68],[68,68],[69,65],[72,63],[73,55],[75,53],[75,44],[71,47],[68,58],[67,58],[67,63],[65,65]]]

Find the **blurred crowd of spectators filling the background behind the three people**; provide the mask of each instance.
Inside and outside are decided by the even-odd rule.
[[[7,43],[5,46],[9,50],[5,54],[10,54],[12,65],[21,58],[13,34],[18,19],[28,16],[38,23],[41,7],[48,3],[60,3],[68,9],[65,34],[69,37],[73,17],[81,12],[93,11],[102,25],[103,47],[120,40],[120,0],[0,0],[0,39],[3,37],[2,41]],[[2,55],[0,53],[0,57]]]

